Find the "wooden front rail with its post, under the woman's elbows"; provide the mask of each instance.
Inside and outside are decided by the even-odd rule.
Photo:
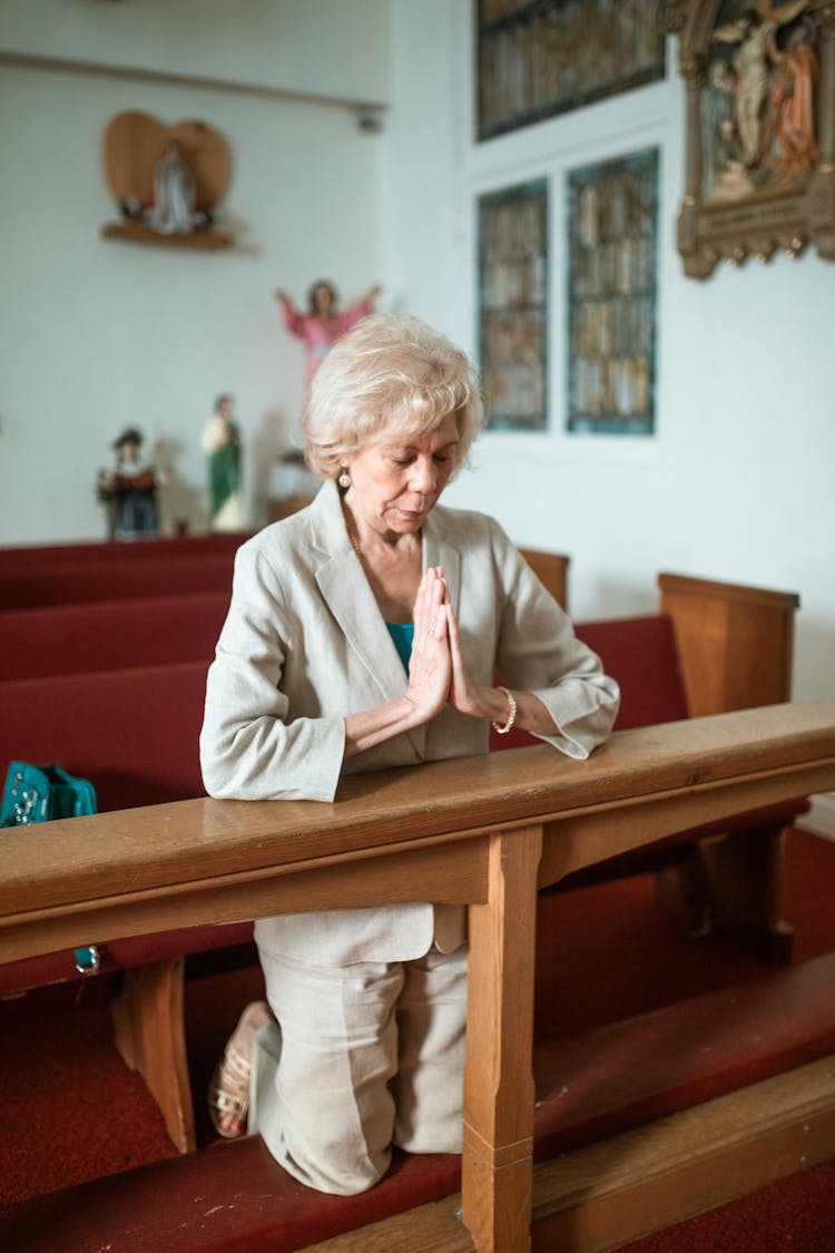
[[[537,888],[682,826],[834,783],[829,700],[620,732],[582,763],[542,747],[357,776],[343,781],[333,804],[194,799],[48,823],[38,841],[11,831],[0,882],[0,960],[71,947],[90,933],[129,936],[277,910],[468,905],[463,1219],[478,1253],[525,1250],[533,1204]],[[831,1153],[835,1126],[835,1071],[819,1068],[814,1080],[812,1094],[812,1076],[799,1073],[779,1113],[780,1125],[800,1120],[806,1128],[810,1162]],[[757,1145],[776,1145],[764,1155],[752,1158],[745,1130],[732,1144],[725,1136],[726,1152],[714,1154],[700,1204],[711,1188],[726,1187],[729,1168],[741,1160],[776,1169],[782,1141],[774,1119],[754,1133]],[[687,1148],[699,1152],[699,1140]],[[782,1169],[790,1168],[784,1153]],[[565,1172],[565,1160],[558,1169]],[[657,1162],[645,1160],[633,1190],[652,1169]],[[746,1177],[751,1188],[755,1174]],[[628,1203],[628,1189],[623,1198]],[[691,1198],[692,1190],[682,1203]],[[611,1209],[611,1199],[601,1205]],[[555,1219],[550,1207],[545,1193],[536,1198],[543,1232]],[[665,1220],[674,1220],[669,1204]],[[456,1237],[448,1209],[416,1222],[424,1233],[434,1223],[434,1248],[462,1247],[443,1243]],[[402,1248],[421,1247],[408,1234],[408,1215],[397,1239]]]

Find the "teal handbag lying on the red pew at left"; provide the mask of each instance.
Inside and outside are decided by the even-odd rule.
[[[0,827],[29,827],[54,818],[80,818],[96,812],[95,788],[60,766],[29,766],[11,762],[0,802]],[[83,975],[99,969],[94,945],[75,950],[75,966]]]

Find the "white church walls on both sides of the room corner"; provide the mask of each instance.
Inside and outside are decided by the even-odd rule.
[[[202,14],[203,28],[172,61],[170,23],[184,6],[194,20]],[[51,34],[33,46],[38,23],[21,15],[40,10],[43,19],[50,8],[54,21],[40,26]],[[0,543],[100,535],[93,477],[128,422],[174,445],[182,499],[199,501],[199,429],[220,390],[238,398],[250,490],[263,485],[302,397],[300,348],[280,331],[269,296],[279,283],[300,296],[329,274],[349,297],[381,281],[383,307],[417,312],[472,351],[476,198],[546,175],[551,430],[483,436],[474,471],[449,489],[449,501],[494,512],[520,543],[571,554],[577,616],[653,605],[660,569],[797,590],[795,695],[832,695],[835,266],[810,253],[722,268],[705,283],[684,278],[675,45],[665,83],[474,144],[471,4],[391,0],[391,30],[388,9],[388,0],[0,0]],[[110,23],[131,13],[141,38],[111,38]],[[66,43],[75,31],[66,14],[85,23],[80,45]],[[339,43],[330,19],[346,24]],[[93,39],[100,43],[90,51]],[[280,55],[265,58],[277,40]],[[76,58],[86,48],[88,60],[98,51],[109,64],[124,64],[133,49],[136,65],[156,59],[209,78],[240,76],[249,65],[269,78],[277,66],[277,90],[302,83],[327,96],[334,83],[339,93],[364,83],[373,99],[388,91],[391,109],[383,132],[369,135],[327,101],[1,63],[4,49],[54,56],[60,48]],[[353,66],[349,81],[334,59]],[[299,70],[295,79],[287,66]],[[99,143],[126,108],[169,122],[204,118],[227,135],[235,249],[99,238],[113,217]],[[568,437],[565,175],[650,143],[661,148],[662,169],[657,435]]]

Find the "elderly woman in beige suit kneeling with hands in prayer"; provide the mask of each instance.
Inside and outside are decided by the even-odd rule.
[[[491,723],[578,759],[606,738],[598,658],[497,523],[438,505],[481,421],[472,366],[413,318],[332,350],[304,415],[324,485],[238,551],[200,739],[212,796],[333,801],[343,773],[487,752]],[[290,1174],[339,1194],[392,1144],[461,1152],[464,910],[284,915],[255,940],[269,1004],[215,1073],[220,1134],[248,1113]]]

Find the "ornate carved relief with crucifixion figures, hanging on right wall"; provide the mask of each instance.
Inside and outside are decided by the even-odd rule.
[[[687,90],[679,252],[717,262],[835,261],[835,3],[671,0]]]

